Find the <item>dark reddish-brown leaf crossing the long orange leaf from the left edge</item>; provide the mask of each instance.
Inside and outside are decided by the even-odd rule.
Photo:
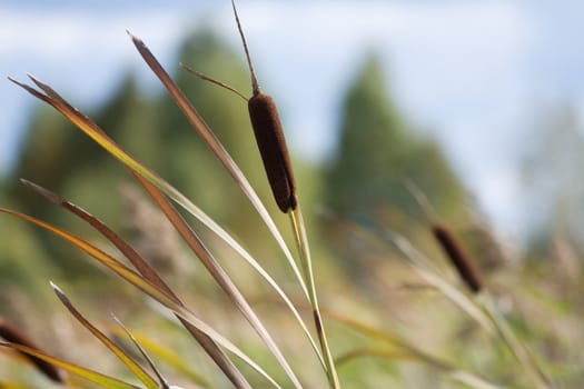
[[[136,174],[133,171],[132,173]],[[137,176],[137,177],[140,177],[140,176]],[[108,239],[113,246],[116,246],[116,248],[120,250],[120,252],[136,267],[136,269],[147,280],[149,280],[157,287],[161,288],[164,291],[166,291],[172,299],[175,299],[175,302],[182,305],[182,302],[172,292],[172,290],[168,287],[168,285],[160,278],[158,272],[150,266],[150,263],[148,263],[128,242],[121,239],[108,226],[106,226],[103,222],[101,222],[99,219],[88,213],[83,209],[60,198],[56,193],[51,192],[50,190],[41,186],[33,183],[31,181],[24,180],[24,179],[21,179],[21,182],[28,188],[32,189],[37,193],[48,199],[49,201],[63,207],[68,211],[72,212],[73,215],[85,220],[90,226],[92,226],[106,239]],[[219,366],[219,368],[225,372],[225,375],[237,387],[242,387],[242,388],[249,387],[249,385],[247,383],[246,379],[240,373],[240,371],[234,366],[229,357],[227,357],[222,352],[219,346],[212,341],[212,339],[207,337],[205,333],[198,331],[195,327],[190,326],[187,321],[184,321],[184,319],[181,319],[180,317],[179,317],[179,320],[182,321],[182,325],[187,328],[187,330],[192,335],[192,337],[195,337],[195,339],[197,339],[197,341],[201,345],[201,347],[206,350],[206,352],[214,359],[214,361]]]

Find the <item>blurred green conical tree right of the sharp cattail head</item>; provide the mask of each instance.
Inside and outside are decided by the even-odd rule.
[[[463,184],[438,144],[416,132],[398,111],[386,92],[382,63],[372,56],[344,102],[339,144],[326,174],[326,201],[342,217],[378,218],[389,207],[420,218],[408,181],[441,216],[463,209]]]

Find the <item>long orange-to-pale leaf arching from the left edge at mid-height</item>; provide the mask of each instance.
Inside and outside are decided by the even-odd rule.
[[[28,215],[19,213],[19,212],[16,212],[9,209],[4,209],[4,208],[0,208],[0,212],[4,212],[11,216],[14,216],[19,219],[22,219],[24,221],[28,221],[41,228],[44,228],[46,230],[55,233],[61,239],[76,246],[83,252],[88,253],[89,256],[98,260],[101,265],[107,267],[109,270],[118,275],[120,278],[133,285],[136,288],[140,289],[142,292],[150,296],[151,298],[160,302],[162,306],[167,307],[168,309],[170,309],[171,311],[174,311],[175,313],[177,313],[178,316],[187,320],[190,325],[195,326],[198,330],[205,332],[214,341],[216,341],[221,347],[232,352],[238,358],[240,358],[244,362],[249,365],[249,367],[251,367],[259,375],[266,378],[271,385],[274,385],[277,388],[280,388],[280,386],[266,371],[264,371],[264,369],[261,369],[251,358],[249,358],[245,352],[242,352],[234,343],[227,340],[224,336],[215,331],[212,327],[201,321],[197,316],[195,316],[195,313],[192,313],[186,307],[176,303],[172,296],[169,296],[162,289],[154,285],[152,282],[148,281],[141,275],[126,267],[123,263],[121,263],[120,261],[111,257],[110,255],[103,252],[102,250],[92,246],[88,241],[79,237],[76,237],[70,232],[61,230],[52,225],[49,225],[47,222],[32,218]]]

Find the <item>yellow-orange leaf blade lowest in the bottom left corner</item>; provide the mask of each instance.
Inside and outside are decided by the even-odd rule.
[[[1,347],[11,348],[13,350],[27,353],[27,355],[29,355],[31,357],[34,357],[34,358],[38,358],[38,359],[42,359],[42,360],[44,360],[48,363],[51,363],[51,365],[57,366],[57,367],[59,367],[59,368],[61,368],[63,370],[69,371],[70,373],[77,375],[77,376],[79,376],[81,378],[85,378],[88,381],[95,382],[95,383],[99,385],[102,388],[108,388],[108,389],[140,389],[139,387],[133,386],[131,383],[123,382],[123,381],[118,380],[118,379],[116,379],[113,377],[109,377],[109,376],[102,375],[100,372],[97,372],[97,371],[93,371],[93,370],[80,367],[78,365],[67,362],[67,361],[65,361],[62,359],[59,359],[59,358],[56,358],[56,357],[51,357],[51,356],[46,355],[46,353],[43,353],[43,352],[41,352],[39,350],[31,349],[30,347],[26,347],[26,346],[18,345],[18,343],[12,343],[12,342],[4,342],[4,341],[0,341],[0,346]]]

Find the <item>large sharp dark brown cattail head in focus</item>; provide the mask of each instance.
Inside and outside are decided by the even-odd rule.
[[[274,99],[255,93],[248,101],[248,110],[276,203],[285,213],[295,210],[298,205],[296,180]]]

